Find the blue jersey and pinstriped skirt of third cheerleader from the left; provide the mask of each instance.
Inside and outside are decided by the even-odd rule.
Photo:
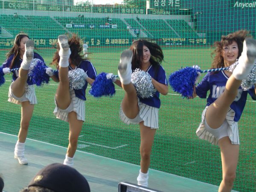
[[[166,72],[162,66],[159,66],[157,74],[155,75],[154,67],[151,65],[146,72],[156,81],[167,85]],[[158,126],[158,110],[160,108],[160,93],[156,90],[153,97],[142,99],[138,97],[139,113],[134,119],[129,119],[120,107],[120,119],[127,125],[138,124],[142,121],[143,124],[151,129],[159,128]]]

